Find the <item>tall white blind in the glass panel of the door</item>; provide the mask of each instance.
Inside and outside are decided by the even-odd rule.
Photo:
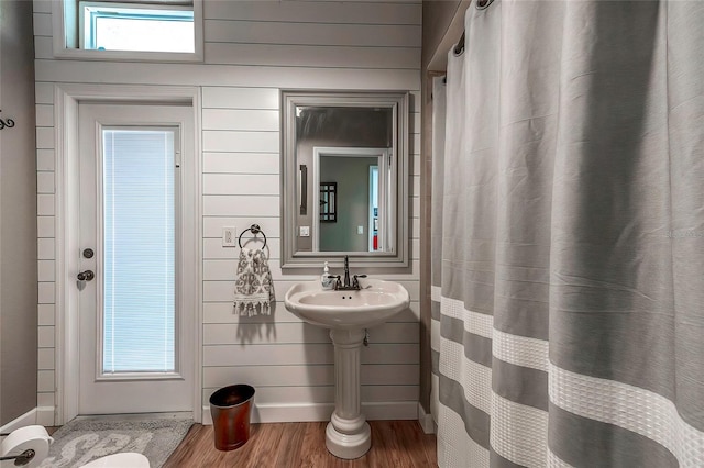
[[[102,133],[105,374],[175,371],[176,136]]]

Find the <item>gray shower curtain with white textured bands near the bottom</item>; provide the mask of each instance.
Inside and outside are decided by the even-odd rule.
[[[433,111],[440,466],[704,467],[704,3],[472,4]]]

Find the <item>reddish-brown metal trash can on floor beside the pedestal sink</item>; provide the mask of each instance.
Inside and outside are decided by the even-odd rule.
[[[254,387],[244,383],[223,387],[210,395],[210,415],[218,450],[234,450],[250,438],[253,399]]]

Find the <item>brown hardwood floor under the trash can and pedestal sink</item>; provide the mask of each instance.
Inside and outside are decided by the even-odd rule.
[[[355,460],[326,448],[327,422],[252,424],[250,439],[231,452],[216,449],[212,426],[195,424],[164,468],[437,467],[436,436],[417,421],[370,421],[372,449]]]

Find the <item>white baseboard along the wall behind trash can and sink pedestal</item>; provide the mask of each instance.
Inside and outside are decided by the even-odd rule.
[[[309,421],[329,421],[334,410],[333,403],[289,403],[256,404],[252,409],[252,423],[293,423]],[[416,420],[418,402],[391,401],[362,403],[362,412],[370,421],[375,420]],[[211,425],[210,406],[202,406],[202,424]]]

